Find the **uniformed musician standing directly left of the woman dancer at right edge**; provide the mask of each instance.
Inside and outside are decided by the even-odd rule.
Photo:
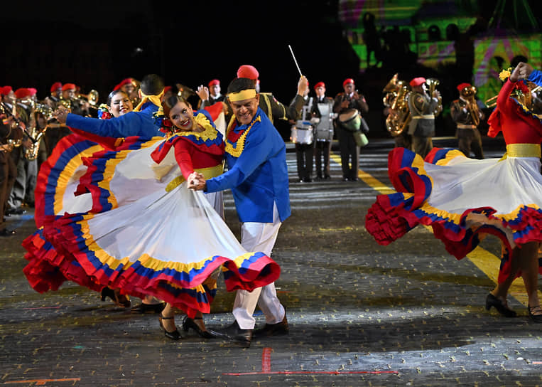
[[[475,95],[476,88],[470,83],[457,85],[459,98],[450,105],[450,115],[457,124],[457,148],[466,157],[470,152],[475,154],[475,159],[483,159],[482,136],[478,130],[481,120],[484,120],[484,112],[478,108]]]

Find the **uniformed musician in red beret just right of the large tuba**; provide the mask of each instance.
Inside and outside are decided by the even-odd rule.
[[[438,112],[440,92],[433,90],[428,95],[426,78],[417,77],[410,82],[412,91],[408,97],[408,109],[411,112],[411,122],[408,124],[408,134],[412,135],[412,151],[425,158],[433,149],[435,135],[435,112]]]

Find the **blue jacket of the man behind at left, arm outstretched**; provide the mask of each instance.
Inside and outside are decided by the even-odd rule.
[[[160,127],[155,123],[153,117],[153,113],[157,111],[158,106],[152,102],[146,102],[140,112],[129,112],[109,120],[82,117],[70,113],[67,115],[66,125],[102,137],[163,137],[164,134],[160,132]]]

